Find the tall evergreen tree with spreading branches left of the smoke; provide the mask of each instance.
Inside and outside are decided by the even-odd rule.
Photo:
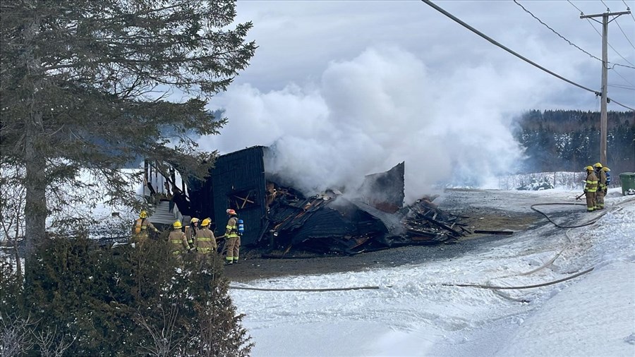
[[[127,203],[119,168],[136,157],[207,173],[200,162],[214,153],[198,152],[188,133],[218,133],[226,121],[206,100],[256,48],[251,23],[229,28],[234,1],[13,0],[0,16],[0,159],[25,168],[27,264],[45,236],[47,193],[76,183],[80,168]],[[191,99],[172,102],[170,92]]]

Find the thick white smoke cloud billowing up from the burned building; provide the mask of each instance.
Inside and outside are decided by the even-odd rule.
[[[231,87],[212,103],[229,123],[200,145],[222,154],[272,147],[267,172],[307,194],[357,188],[405,161],[409,203],[447,184],[497,184],[523,155],[505,113],[531,108],[538,86],[531,74],[482,66],[440,78],[409,52],[370,48],[329,63],[310,86]]]

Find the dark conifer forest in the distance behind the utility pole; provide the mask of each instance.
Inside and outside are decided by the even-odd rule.
[[[514,132],[528,159],[524,172],[582,171],[600,161],[600,113],[531,110]],[[635,171],[635,112],[607,113],[607,166],[611,174]]]

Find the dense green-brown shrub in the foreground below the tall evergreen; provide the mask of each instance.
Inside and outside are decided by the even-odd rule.
[[[86,238],[51,238],[26,267],[29,283],[16,293],[24,303],[3,299],[0,313],[28,316],[34,336],[73,356],[248,356],[253,344],[222,260],[179,261],[164,241],[102,249]],[[32,352],[44,354],[38,344]]]

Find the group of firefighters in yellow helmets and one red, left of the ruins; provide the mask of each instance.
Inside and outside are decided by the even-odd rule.
[[[213,258],[218,252],[217,238],[225,238],[224,251],[225,265],[238,264],[238,257],[241,248],[241,234],[239,227],[238,215],[235,210],[226,210],[229,220],[225,226],[225,234],[223,236],[214,237],[214,233],[210,229],[212,219],[200,219],[192,217],[190,225],[185,226],[181,221],[176,221],[171,225],[171,231],[167,238],[172,255],[178,260],[185,253],[196,253],[198,258]],[[200,222],[200,226],[198,225]],[[158,233],[159,230],[147,219],[147,212],[141,211],[139,218],[135,220],[133,226],[133,243],[143,244],[149,236],[149,230]]]

